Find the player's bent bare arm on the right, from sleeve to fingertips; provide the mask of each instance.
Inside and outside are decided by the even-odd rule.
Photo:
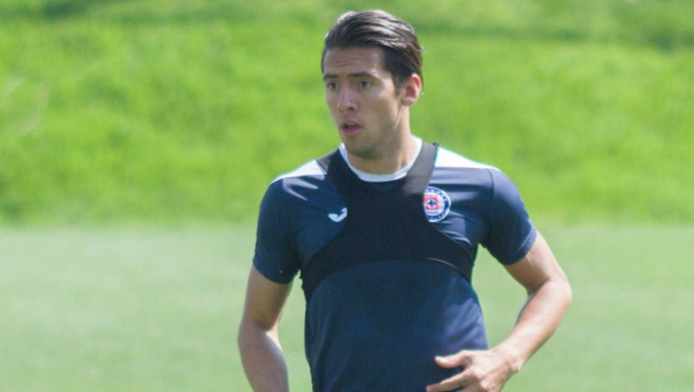
[[[501,391],[511,375],[552,336],[572,300],[566,275],[545,239],[537,239],[525,257],[506,267],[527,290],[528,297],[514,329],[496,348],[437,357],[439,366],[462,366],[463,373],[428,386],[428,392]]]

